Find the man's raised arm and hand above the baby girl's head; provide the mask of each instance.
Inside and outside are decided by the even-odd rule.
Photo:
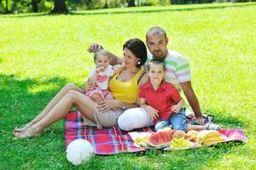
[[[102,49],[102,46],[96,42],[90,44],[88,51],[90,53],[96,53],[99,49]],[[107,50],[108,51],[108,50]],[[121,65],[123,63],[123,59],[119,58],[117,55],[108,51],[110,58],[110,65]]]

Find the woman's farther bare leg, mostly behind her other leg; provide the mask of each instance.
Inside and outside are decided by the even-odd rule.
[[[26,125],[24,125],[20,128],[15,128],[14,133],[24,131],[27,128],[31,127],[36,122],[39,122],[40,120],[42,120],[44,118],[44,116],[46,116],[49,113],[49,111],[51,109],[53,109],[55,107],[55,105],[63,98],[63,96],[65,96],[67,94],[67,92],[69,92],[70,90],[75,90],[81,94],[84,94],[84,91],[82,89],[76,87],[72,83],[68,83],[66,86],[61,88],[60,92],[58,94],[56,94],[53,99],[50,100],[49,104],[46,105],[44,110],[38,116],[36,116],[31,122],[28,122]]]

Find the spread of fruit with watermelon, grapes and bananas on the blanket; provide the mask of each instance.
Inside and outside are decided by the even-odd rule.
[[[171,127],[160,129],[158,132],[148,133],[143,137],[137,137],[134,142],[148,149],[160,149],[170,147],[170,149],[187,149],[193,145],[212,145],[224,142],[225,137],[223,134],[214,130],[202,130],[200,132],[190,130],[185,133],[180,130],[172,130]]]

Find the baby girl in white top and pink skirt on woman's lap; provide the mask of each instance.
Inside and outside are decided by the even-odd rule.
[[[122,68],[122,65],[113,71],[113,67],[109,65],[108,51],[104,49],[101,49],[94,54],[94,63],[96,67],[90,71],[88,77],[89,82],[94,88],[90,91],[86,91],[85,94],[95,100],[96,103],[99,103],[104,99],[113,99],[112,94],[108,90],[108,81],[109,78],[113,76],[114,72],[119,71]]]

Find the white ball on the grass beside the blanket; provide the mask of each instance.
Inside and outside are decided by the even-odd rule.
[[[75,166],[90,161],[94,153],[90,142],[84,139],[75,139],[67,146],[67,160]]]

